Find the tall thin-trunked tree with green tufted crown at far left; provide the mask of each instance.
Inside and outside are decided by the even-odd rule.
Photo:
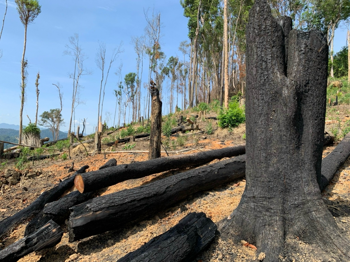
[[[21,109],[20,109],[20,132],[19,132],[19,144],[22,142],[22,121],[23,121],[23,106],[25,102],[25,89],[26,89],[26,70],[27,61],[25,61],[26,45],[27,45],[27,28],[28,24],[33,23],[35,18],[41,13],[41,5],[37,0],[15,0],[17,5],[17,11],[20,16],[20,20],[24,26],[24,44],[23,54],[21,61]]]

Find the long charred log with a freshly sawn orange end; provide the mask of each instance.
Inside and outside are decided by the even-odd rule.
[[[91,192],[129,179],[138,179],[170,169],[199,166],[214,159],[235,157],[241,154],[245,154],[245,145],[118,165],[77,175],[74,184],[80,193]]]

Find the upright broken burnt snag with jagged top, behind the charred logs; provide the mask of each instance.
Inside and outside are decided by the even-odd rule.
[[[148,159],[160,158],[160,143],[162,134],[162,101],[159,98],[159,90],[151,80],[151,134],[149,137]]]

